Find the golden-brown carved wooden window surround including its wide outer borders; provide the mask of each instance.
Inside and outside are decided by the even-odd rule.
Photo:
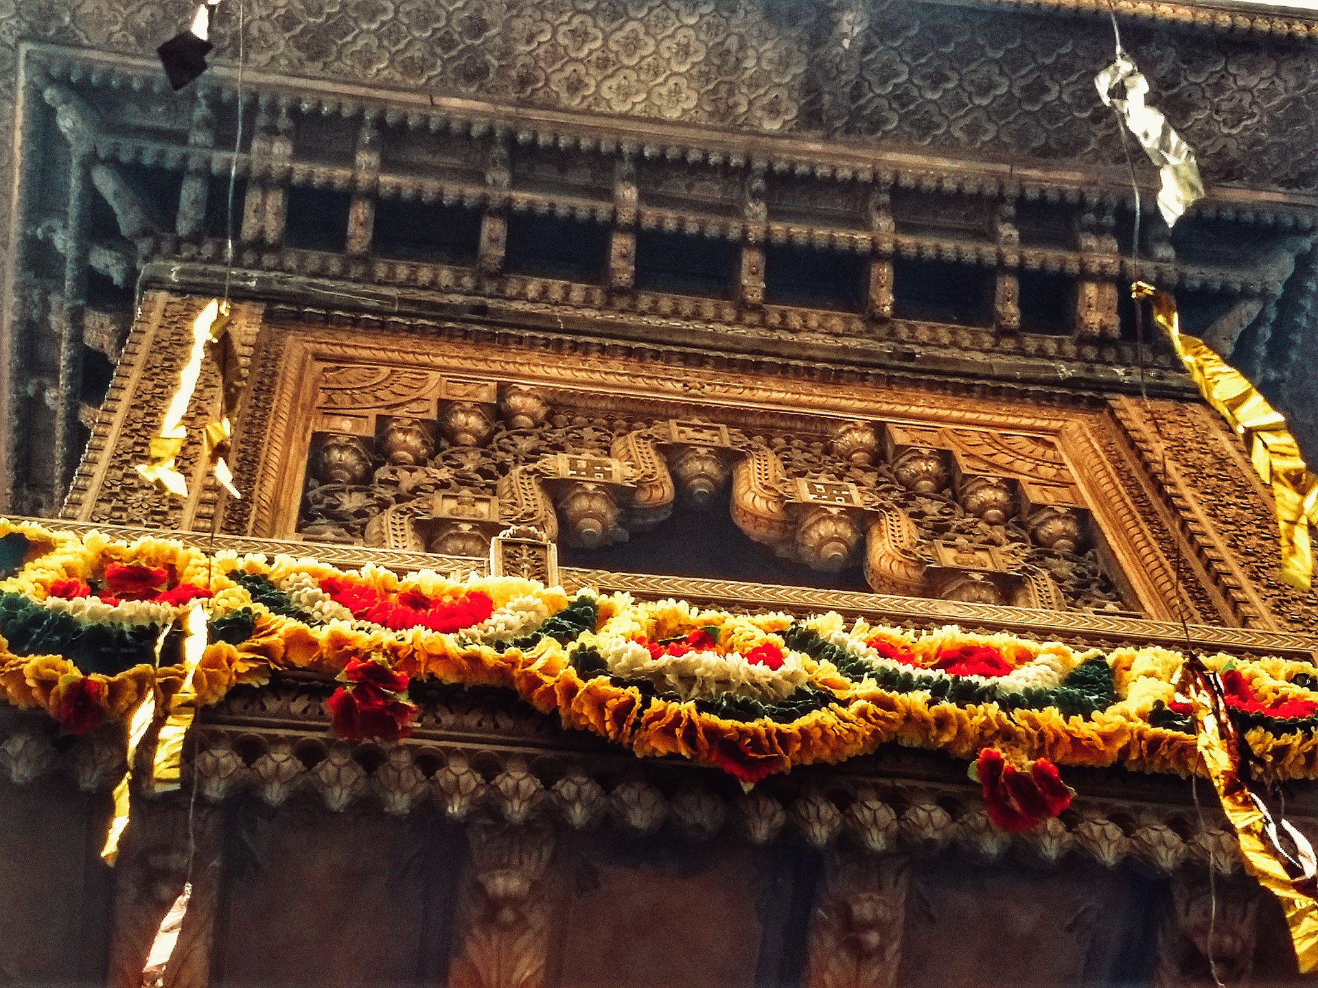
[[[144,307],[70,514],[138,520],[125,516],[128,474],[194,307],[163,294]],[[1268,582],[1267,553],[1238,555],[1228,537],[1268,524],[1231,437],[1178,444],[1173,464],[1209,458],[1177,466],[1188,493],[1166,501],[1133,402],[1110,416],[647,344],[605,354],[534,333],[474,341],[460,324],[413,336],[245,319],[235,462],[246,497],[224,506],[231,532],[485,556],[507,524],[590,548],[730,495],[751,540],[821,570],[863,569],[884,593],[1173,620],[1180,606],[1191,622],[1259,628],[1294,627],[1310,606],[1284,603],[1293,591]],[[1206,422],[1166,410],[1165,429]],[[198,453],[185,451],[192,470]],[[199,526],[214,493],[194,486],[187,505],[142,491],[144,518]],[[1278,605],[1300,610],[1278,618]]]

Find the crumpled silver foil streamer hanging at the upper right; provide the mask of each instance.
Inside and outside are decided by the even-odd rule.
[[[1135,62],[1120,49],[1116,59],[1094,76],[1098,96],[1104,105],[1122,115],[1126,126],[1140,142],[1144,153],[1157,165],[1162,187],[1157,194],[1157,208],[1168,227],[1174,227],[1190,203],[1203,198],[1203,180],[1194,151],[1166,123],[1161,111],[1144,103],[1149,82],[1136,69]]]

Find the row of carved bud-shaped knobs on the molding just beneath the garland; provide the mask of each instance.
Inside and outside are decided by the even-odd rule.
[[[858,772],[807,767],[745,794],[716,772],[667,759],[633,760],[619,776],[617,757],[590,739],[565,736],[525,707],[492,707],[460,692],[424,705],[422,730],[403,744],[347,744],[326,732],[328,692],[281,682],[262,701],[265,713],[241,701],[208,711],[185,768],[185,789],[195,768],[203,806],[248,796],[278,809],[311,798],[331,811],[360,806],[402,815],[435,806],[464,822],[579,830],[608,823],[633,834],[668,829],[701,839],[724,833],[757,844],[782,838],[871,855],[961,847],[998,860],[1017,848],[1046,863],[1078,854],[1106,865],[1137,860],[1164,873],[1198,871],[1210,860],[1222,875],[1240,869],[1224,821],[1213,811],[1201,826],[1186,784],[1174,779],[1118,773],[1103,781],[1099,773],[1086,793],[1083,773],[1073,772],[1081,796],[1072,810],[1011,837],[988,822],[978,786],[963,773],[900,750],[873,756]],[[493,751],[481,735],[488,727],[478,727],[492,717],[507,728]],[[299,725],[277,723],[289,718]],[[11,713],[0,721],[0,771],[18,784],[71,776],[84,790],[108,790],[123,755],[123,738],[112,728],[61,752],[45,719]],[[177,797],[163,802],[170,800]],[[1313,833],[1318,806],[1293,802],[1288,818]]]

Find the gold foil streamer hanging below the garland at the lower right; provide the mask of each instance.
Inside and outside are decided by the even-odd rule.
[[[1222,682],[1194,656],[1188,656],[1181,688],[1194,709],[1199,756],[1235,830],[1246,871],[1277,897],[1286,917],[1301,974],[1318,970],[1318,862],[1309,840],[1282,818],[1278,823],[1247,785],[1240,739],[1227,714]],[[1294,854],[1285,850],[1285,834]]]

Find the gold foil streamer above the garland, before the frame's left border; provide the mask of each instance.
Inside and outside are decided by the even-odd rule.
[[[232,436],[231,415],[237,403],[239,374],[237,354],[229,336],[229,306],[219,299],[211,299],[192,321],[192,352],[179,371],[178,389],[165,410],[161,431],[152,436],[150,462],[138,464],[137,473],[166,494],[187,497],[187,481],[179,473],[175,461],[187,440],[183,418],[192,402],[192,393],[196,391],[196,382],[202,375],[202,361],[207,354],[211,354],[219,365],[223,411],[220,419],[204,429],[206,456],[220,485],[232,497],[241,498],[233,486],[233,473],[224,458]]]

